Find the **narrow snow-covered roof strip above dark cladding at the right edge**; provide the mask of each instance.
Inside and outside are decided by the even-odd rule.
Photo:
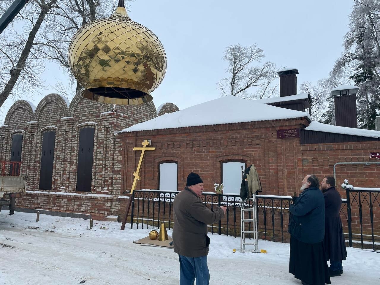
[[[325,131],[327,133],[338,133],[352,136],[367,136],[370,138],[380,138],[380,131],[362,130],[357,128],[340,127],[334,125],[326,125],[324,123],[311,122],[305,130],[309,131]]]

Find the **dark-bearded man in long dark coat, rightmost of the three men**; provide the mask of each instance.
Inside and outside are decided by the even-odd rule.
[[[325,250],[326,258],[330,260],[330,276],[340,276],[343,273],[342,260],[347,257],[346,244],[343,235],[340,208],[342,198],[335,188],[334,177],[326,176],[321,182],[321,190],[325,197]]]

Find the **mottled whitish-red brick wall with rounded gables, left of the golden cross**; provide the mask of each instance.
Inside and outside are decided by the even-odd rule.
[[[174,105],[173,105],[174,106]],[[11,137],[15,130],[23,134],[21,174],[28,176],[28,194],[17,199],[18,207],[52,211],[82,212],[105,219],[121,187],[122,141],[116,131],[157,116],[154,103],[116,106],[98,103],[76,95],[71,103],[58,94],[44,97],[35,108],[28,101],[16,101],[9,109],[5,125],[0,127],[0,159],[9,160]],[[91,194],[59,195],[32,193],[39,190],[42,135],[55,131],[51,193],[76,193],[79,130],[95,128]],[[114,194],[114,195],[113,195]],[[112,195],[111,198],[105,195]],[[116,195],[116,196],[115,196]],[[95,198],[94,198],[95,197]]]

